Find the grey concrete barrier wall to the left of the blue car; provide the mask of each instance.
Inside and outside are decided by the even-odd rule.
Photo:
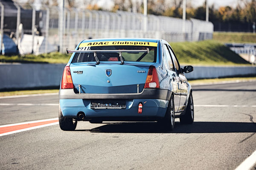
[[[0,89],[58,86],[65,64],[0,64]]]

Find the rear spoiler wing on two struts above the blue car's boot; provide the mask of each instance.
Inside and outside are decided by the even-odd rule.
[[[96,65],[99,64],[99,59],[97,57],[97,53],[119,53],[121,65],[124,64],[124,60],[122,58],[122,52],[124,53],[149,53],[149,48],[146,50],[68,50],[66,49],[67,54],[69,53],[94,53],[94,58],[96,61]]]

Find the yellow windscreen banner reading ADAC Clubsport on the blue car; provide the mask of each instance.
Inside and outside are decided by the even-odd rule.
[[[137,46],[151,46],[157,47],[157,42],[143,42],[143,41],[99,41],[99,42],[83,42],[80,47],[93,46],[112,46],[112,45],[137,45]]]

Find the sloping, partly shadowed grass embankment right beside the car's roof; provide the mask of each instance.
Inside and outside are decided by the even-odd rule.
[[[238,54],[214,40],[171,42],[181,65],[245,65]]]

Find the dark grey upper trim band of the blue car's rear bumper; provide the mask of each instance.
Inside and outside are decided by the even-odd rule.
[[[169,100],[172,91],[145,88],[139,94],[76,94],[73,89],[60,89],[59,99],[163,99]]]

